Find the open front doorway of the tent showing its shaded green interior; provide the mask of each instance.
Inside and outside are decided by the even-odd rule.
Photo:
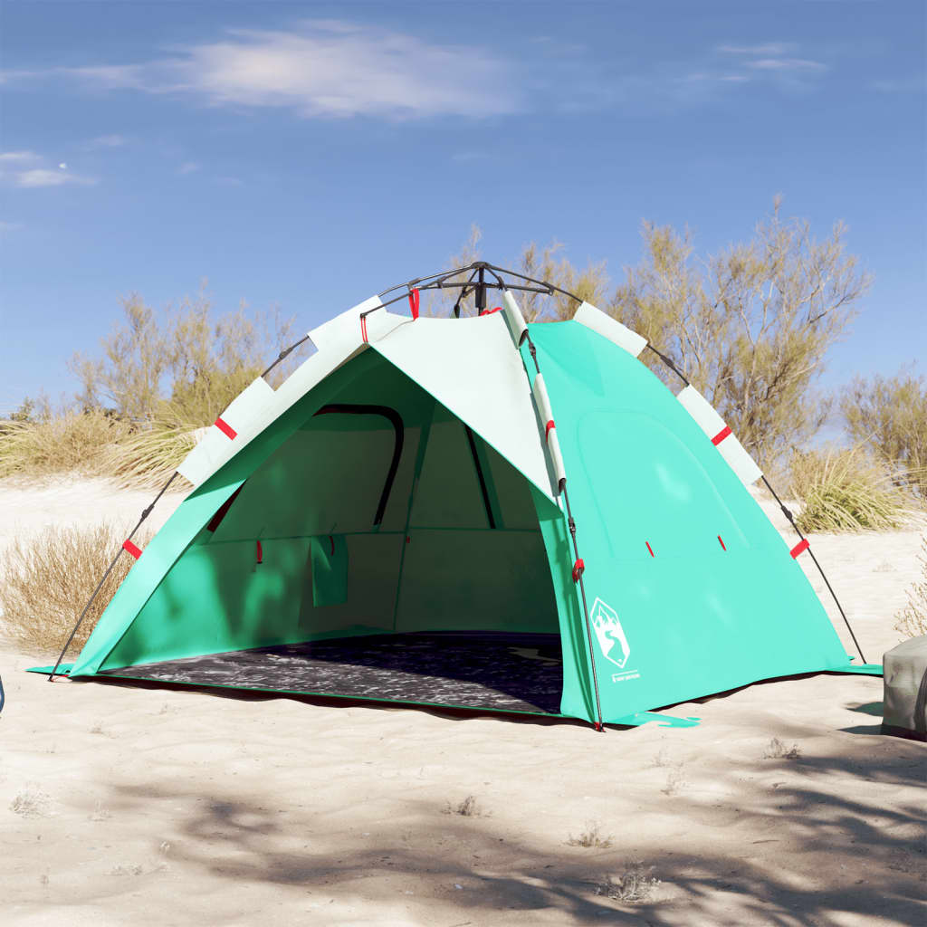
[[[248,476],[140,613],[167,608],[159,628],[199,652],[146,660],[128,635],[103,673],[559,713],[559,618],[527,479],[373,352],[352,363],[366,369]]]

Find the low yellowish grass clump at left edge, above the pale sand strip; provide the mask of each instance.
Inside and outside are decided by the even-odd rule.
[[[99,473],[108,447],[128,434],[128,425],[96,409],[8,422],[0,431],[0,476]]]

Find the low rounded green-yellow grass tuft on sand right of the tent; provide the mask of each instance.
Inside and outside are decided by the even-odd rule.
[[[912,504],[884,465],[859,449],[795,453],[791,491],[806,532],[898,527]]]

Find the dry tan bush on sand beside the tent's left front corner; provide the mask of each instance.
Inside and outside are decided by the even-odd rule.
[[[48,527],[6,548],[0,583],[0,629],[32,651],[55,652],[68,639],[128,531],[107,523]],[[144,546],[147,535],[136,535]],[[134,561],[120,557],[72,644],[83,647]]]

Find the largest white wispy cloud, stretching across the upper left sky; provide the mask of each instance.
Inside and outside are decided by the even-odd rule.
[[[502,57],[340,20],[305,22],[293,32],[232,30],[222,41],[144,63],[6,76],[62,73],[106,89],[292,108],[304,117],[482,117],[511,112],[519,102]]]

